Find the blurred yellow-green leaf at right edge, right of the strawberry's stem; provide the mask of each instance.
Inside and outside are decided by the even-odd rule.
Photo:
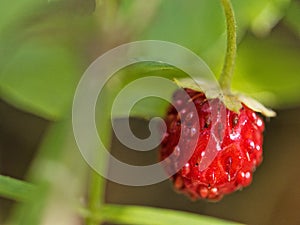
[[[233,88],[272,107],[300,102],[300,43],[278,30],[264,39],[248,36],[240,45]]]

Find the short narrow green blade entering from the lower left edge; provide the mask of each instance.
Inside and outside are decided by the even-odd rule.
[[[25,181],[0,175],[0,196],[16,201],[29,201],[36,191],[34,185]]]

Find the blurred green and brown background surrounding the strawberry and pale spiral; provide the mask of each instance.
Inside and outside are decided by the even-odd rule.
[[[300,224],[300,1],[232,3],[239,39],[233,88],[278,113],[266,120],[264,162],[252,185],[209,203],[175,193],[169,181],[146,187],[107,182],[107,202],[173,208],[246,224]],[[89,168],[70,125],[74,91],[98,56],[143,39],[183,45],[218,75],[226,45],[220,1],[0,3],[0,173],[45,186],[33,205],[1,198],[0,224],[17,221],[21,211],[27,217],[38,214],[41,224],[83,224],[71,210],[73,199],[86,201],[89,182]],[[128,71],[124,74],[130,79],[141,73]],[[113,83],[108,86],[114,88]],[[147,120],[140,118],[161,115],[165,104],[148,107],[150,115],[140,111],[132,119],[132,130],[140,137],[149,135]],[[130,151],[115,137],[111,143],[120,160],[146,165],[157,159],[157,150]]]

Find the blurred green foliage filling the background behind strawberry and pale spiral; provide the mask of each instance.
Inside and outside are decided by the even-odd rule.
[[[232,2],[239,37],[233,88],[275,109],[299,105],[300,2]],[[278,24],[283,28],[277,29]],[[143,219],[150,217],[158,218],[159,224],[233,224],[171,210],[103,205],[104,181],[95,174],[87,179],[89,168],[76,150],[70,123],[76,85],[88,65],[102,53],[119,44],[142,39],[181,44],[201,56],[218,75],[226,44],[220,2],[19,0],[0,3],[0,97],[20,110],[51,121],[26,177],[36,186],[0,177],[0,194],[22,202],[8,218],[9,222],[40,224],[61,211],[65,224],[71,224],[74,215],[88,218],[89,224],[106,220],[152,224],[149,219]],[[108,84],[105,93],[109,97],[100,104],[109,106],[116,90],[131,80],[149,74],[161,75],[162,71],[169,78],[183,76],[179,70],[166,65],[133,65],[117,74],[122,78],[121,83]],[[165,110],[162,102],[153,100],[142,104],[134,109],[134,116],[148,118],[162,115]],[[145,107],[152,110],[145,111]],[[104,125],[99,128],[100,133],[110,130],[106,121],[108,109],[101,109],[98,119]],[[110,143],[109,132],[102,138]],[[87,186],[89,203],[83,209],[85,204],[79,199],[85,195]],[[15,194],[14,190],[19,193]]]

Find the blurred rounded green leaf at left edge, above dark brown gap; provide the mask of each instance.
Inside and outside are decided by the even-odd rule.
[[[78,80],[74,63],[62,46],[24,43],[1,68],[1,97],[25,111],[57,119],[71,106]]]

